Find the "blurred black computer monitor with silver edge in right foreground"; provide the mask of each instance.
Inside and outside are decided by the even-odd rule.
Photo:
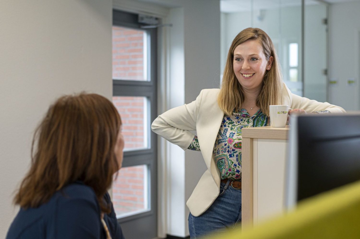
[[[291,116],[285,203],[360,180],[360,113]]]

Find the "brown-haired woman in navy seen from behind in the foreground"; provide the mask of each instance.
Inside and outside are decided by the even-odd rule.
[[[21,208],[6,238],[122,239],[107,190],[123,147],[121,119],[107,98],[59,98],[34,134],[31,168],[14,198]]]

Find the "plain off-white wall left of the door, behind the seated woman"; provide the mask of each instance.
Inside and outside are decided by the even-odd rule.
[[[111,0],[1,1],[0,238],[50,103],[83,90],[111,98],[111,26]]]

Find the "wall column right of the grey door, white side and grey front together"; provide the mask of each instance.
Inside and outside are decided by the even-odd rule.
[[[220,2],[219,0],[176,1],[171,8],[170,104],[168,108],[190,103],[204,88],[219,88]],[[204,7],[205,6],[205,7]],[[185,205],[206,170],[200,152],[181,152],[170,146],[168,173],[171,198],[168,202],[167,234],[188,236],[189,209]]]

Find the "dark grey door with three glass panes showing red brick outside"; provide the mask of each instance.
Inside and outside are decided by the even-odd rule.
[[[156,28],[138,14],[113,10],[113,104],[122,119],[124,160],[112,201],[125,238],[157,237]]]

